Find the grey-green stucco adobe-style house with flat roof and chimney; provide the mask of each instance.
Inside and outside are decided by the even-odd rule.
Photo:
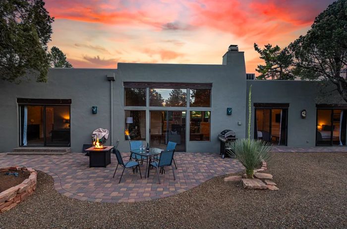
[[[222,64],[50,68],[47,83],[1,82],[0,152],[20,146],[81,152],[99,127],[110,131],[104,145],[119,139],[123,152],[125,130],[151,147],[174,141],[178,151],[219,152],[221,131],[246,135],[250,85],[252,137],[290,147],[346,145],[341,100],[322,96],[317,81],[247,80],[244,54],[231,46]]]

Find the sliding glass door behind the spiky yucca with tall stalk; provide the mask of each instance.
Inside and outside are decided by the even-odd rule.
[[[288,109],[255,109],[254,138],[287,145]]]

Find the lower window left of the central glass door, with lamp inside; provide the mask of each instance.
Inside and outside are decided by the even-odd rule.
[[[125,128],[131,140],[146,140],[146,111],[125,111]]]

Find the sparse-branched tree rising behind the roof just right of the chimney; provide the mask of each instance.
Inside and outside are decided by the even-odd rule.
[[[258,79],[294,79],[290,71],[292,55],[289,53],[288,48],[281,50],[279,46],[272,47],[268,44],[261,50],[254,43],[254,49],[260,54],[260,58],[265,61],[265,65],[259,64],[256,69],[260,73]]]

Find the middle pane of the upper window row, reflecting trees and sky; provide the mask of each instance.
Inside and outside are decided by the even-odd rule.
[[[186,107],[187,89],[149,89],[151,107]]]

